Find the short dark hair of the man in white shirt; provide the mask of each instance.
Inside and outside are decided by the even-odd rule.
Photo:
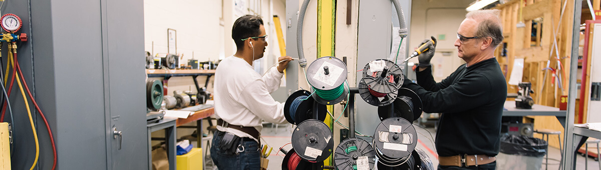
[[[236,42],[236,48],[240,50],[244,47],[242,39],[259,36],[261,25],[263,25],[263,19],[259,16],[245,15],[238,18],[231,28],[231,38]]]

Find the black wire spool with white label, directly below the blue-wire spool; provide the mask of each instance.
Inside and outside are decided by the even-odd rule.
[[[322,162],[332,153],[334,138],[326,123],[315,119],[305,120],[292,132],[292,147],[302,159]]]

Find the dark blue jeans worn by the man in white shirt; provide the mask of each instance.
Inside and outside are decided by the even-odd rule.
[[[257,141],[245,141],[240,139],[238,153],[229,154],[219,148],[223,133],[216,130],[211,144],[211,159],[219,169],[260,169],[261,151]],[[246,138],[248,139],[248,138]]]

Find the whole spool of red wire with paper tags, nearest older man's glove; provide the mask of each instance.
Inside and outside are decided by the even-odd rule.
[[[368,104],[385,106],[397,98],[397,90],[403,85],[401,68],[386,59],[372,60],[363,68],[359,81],[359,95]]]

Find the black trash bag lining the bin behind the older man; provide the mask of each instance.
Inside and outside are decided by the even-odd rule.
[[[501,152],[505,154],[543,157],[547,154],[547,144],[543,139],[522,135],[501,135]]]

